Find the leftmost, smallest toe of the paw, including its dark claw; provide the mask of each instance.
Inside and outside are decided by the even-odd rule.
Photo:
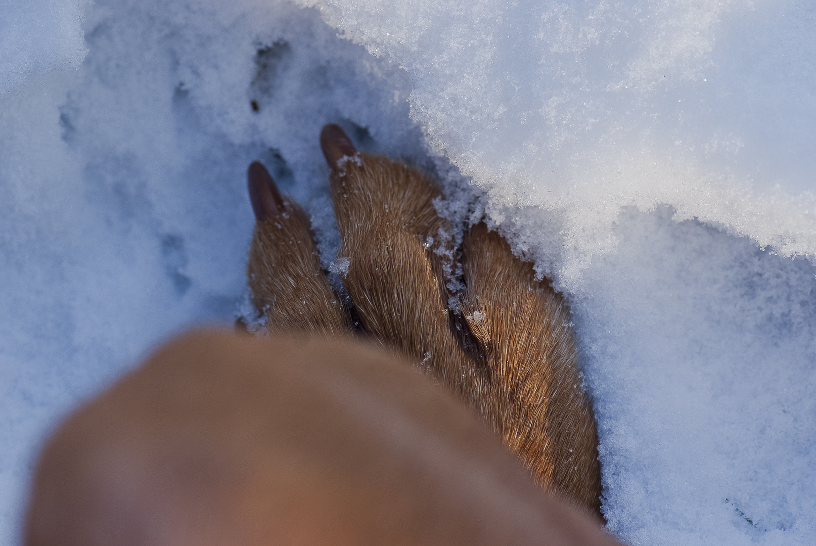
[[[269,331],[347,333],[344,310],[320,267],[303,209],[282,197],[259,162],[251,164],[247,178],[257,222],[246,276]]]

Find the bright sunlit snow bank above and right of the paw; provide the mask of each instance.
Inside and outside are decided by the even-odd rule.
[[[563,250],[534,255],[572,291],[622,206],[816,255],[810,2],[300,1],[406,69],[412,117],[496,224],[535,245],[517,210],[558,216]]]

